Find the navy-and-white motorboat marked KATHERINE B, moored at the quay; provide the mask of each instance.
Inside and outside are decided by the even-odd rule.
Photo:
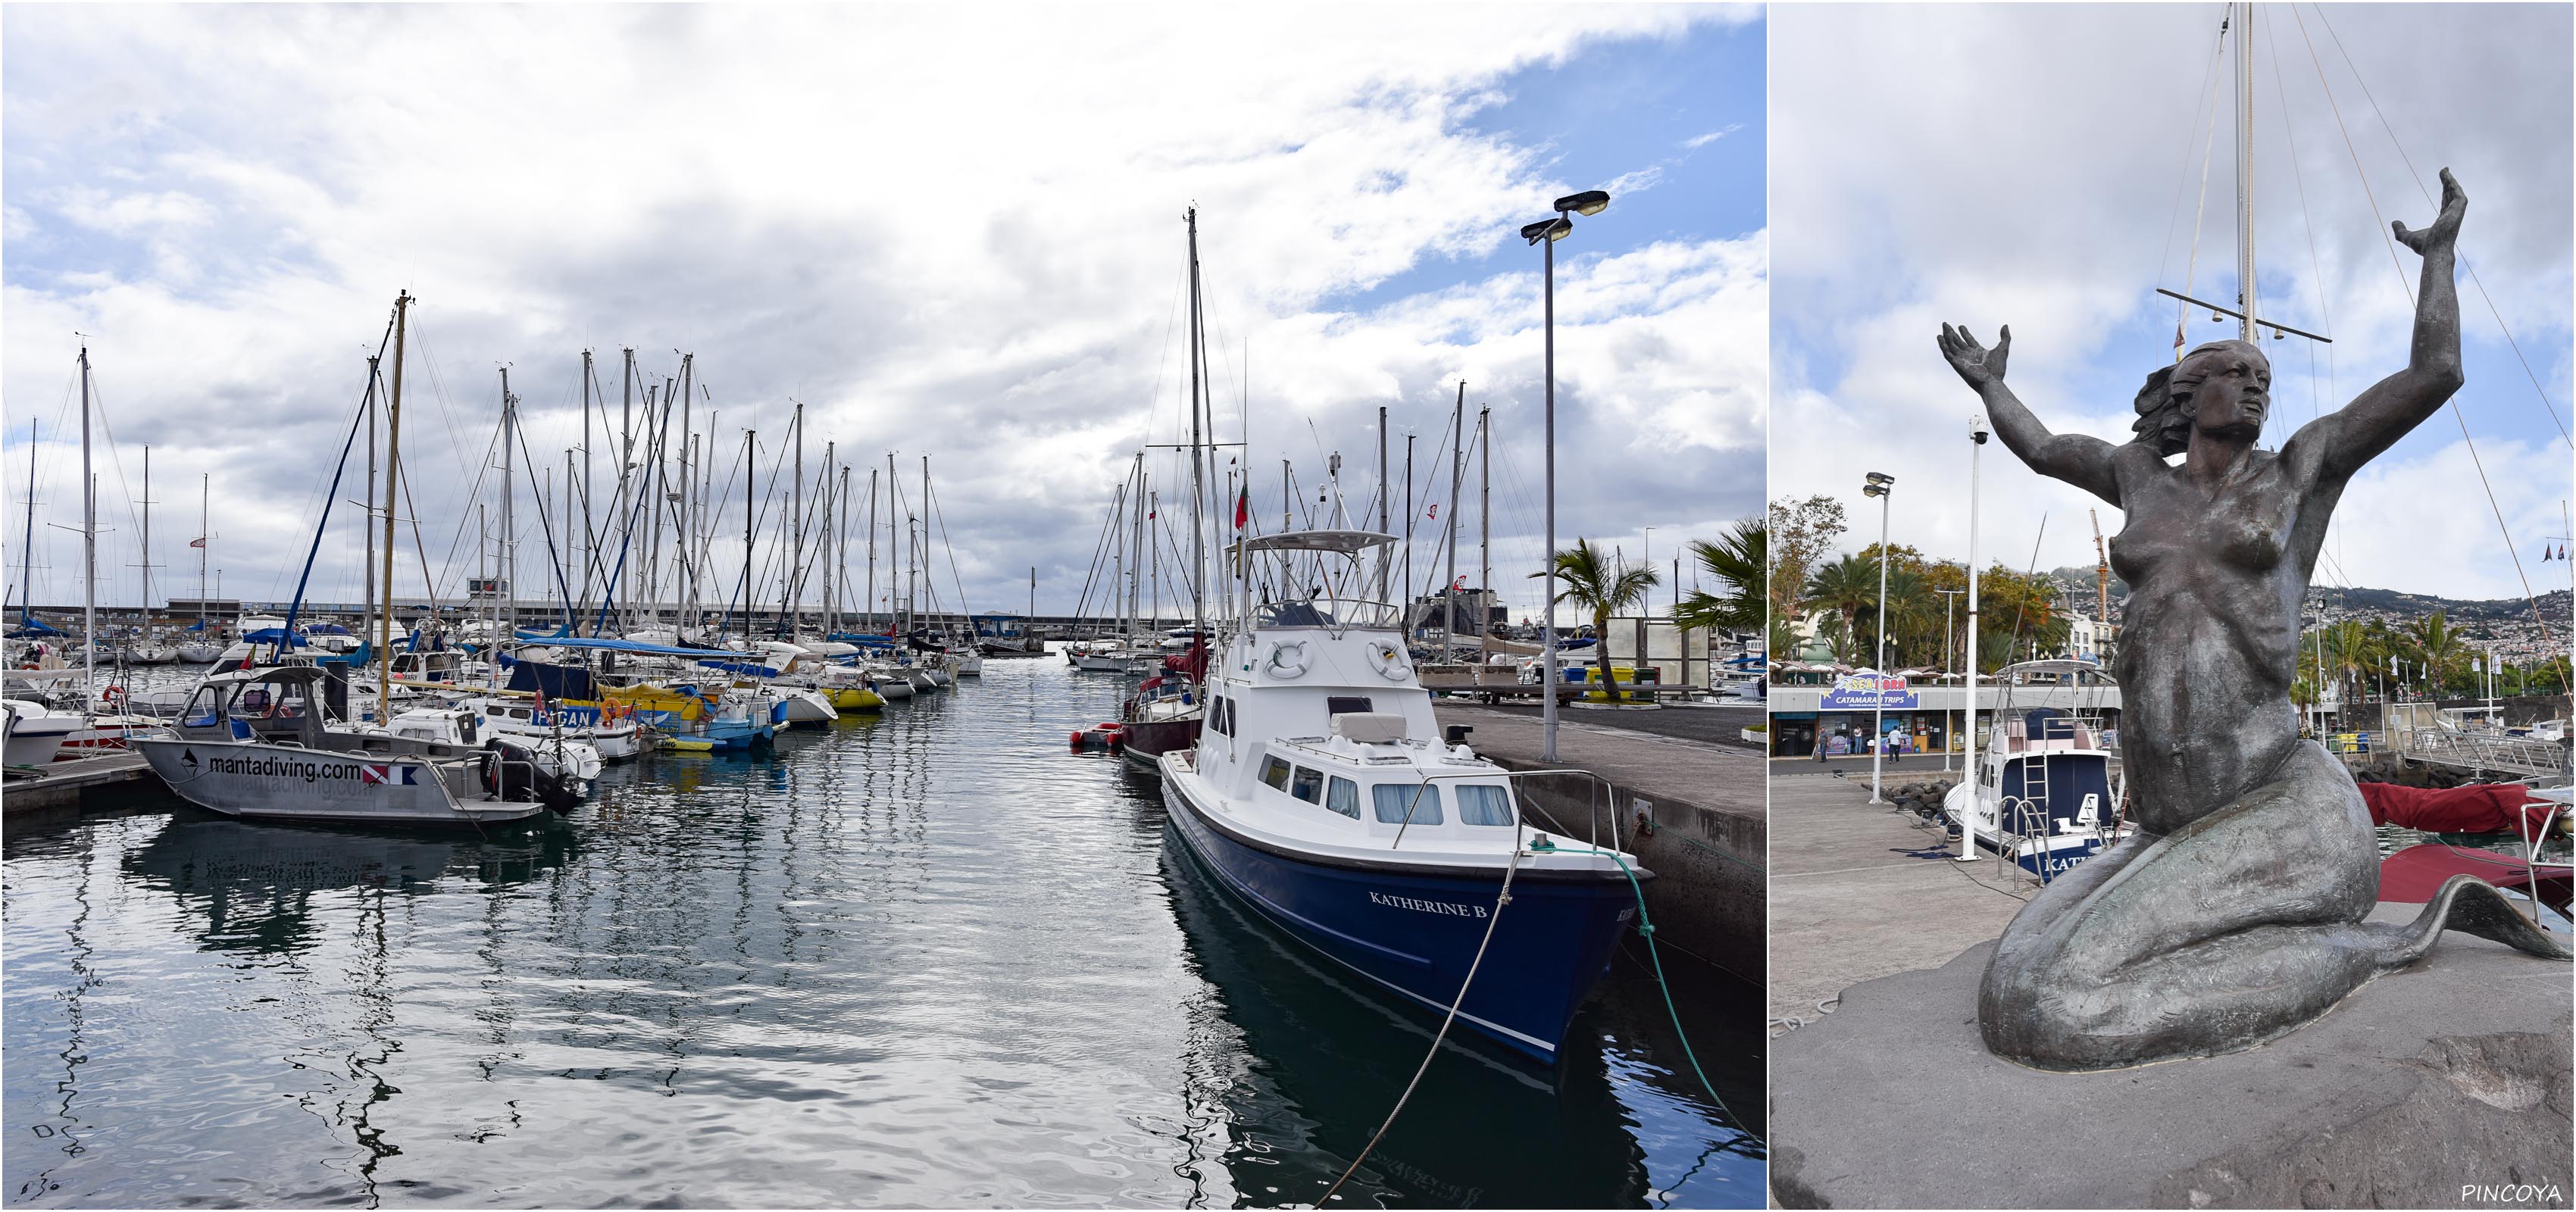
[[[1553,1063],[1636,919],[1631,872],[1651,872],[1515,798],[1463,728],[1437,736],[1399,610],[1340,597],[1386,543],[1239,543],[1239,625],[1208,674],[1206,726],[1159,759],[1167,818],[1218,885],[1306,947]]]

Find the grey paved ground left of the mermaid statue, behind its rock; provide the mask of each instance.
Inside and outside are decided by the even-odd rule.
[[[1775,1024],[1811,1022],[1819,1001],[1862,980],[1950,962],[2002,934],[2035,888],[2027,877],[1999,875],[1991,857],[1953,859],[1958,844],[1942,831],[1911,823],[1911,813],[1873,808],[1868,798],[1868,772],[1842,780],[1772,764]]]

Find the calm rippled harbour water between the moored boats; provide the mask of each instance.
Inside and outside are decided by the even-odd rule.
[[[1066,754],[1115,679],[611,767],[546,829],[175,803],[5,847],[18,1207],[1311,1204],[1437,1019]],[[1334,1207],[1757,1207],[1759,993],[1631,939],[1556,1073],[1450,1045]]]

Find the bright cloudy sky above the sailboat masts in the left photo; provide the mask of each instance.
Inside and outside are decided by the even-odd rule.
[[[1190,203],[1260,512],[1280,458],[1311,499],[1329,450],[1368,499],[1381,404],[1399,463],[1419,435],[1427,512],[1466,378],[1494,409],[1494,579],[1535,610],[1538,252],[1512,229],[1595,185],[1618,201],[1558,244],[1558,533],[1636,558],[1651,525],[1669,569],[1759,512],[1752,8],[13,5],[0,26],[13,602],[31,422],[36,600],[80,597],[75,332],[103,399],[103,594],[142,592],[149,443],[155,558],[180,564],[157,597],[196,589],[211,476],[222,589],[281,600],[410,291],[402,450],[443,592],[471,571],[477,476],[497,499],[500,368],[559,479],[580,353],[616,394],[634,347],[649,381],[696,355],[719,484],[750,425],[768,491],[804,401],[809,468],[824,440],[860,481],[894,450],[917,499],[933,458],[971,605],[1020,605],[1038,566],[1038,607],[1069,610],[1128,455],[1185,417]],[[317,594],[355,597],[358,551],[343,504]],[[410,538],[402,564],[412,594]]]

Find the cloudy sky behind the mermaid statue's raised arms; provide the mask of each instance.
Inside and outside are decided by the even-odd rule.
[[[1888,471],[1893,540],[1965,553],[1976,396],[1932,345],[1942,322],[1989,345],[2012,324],[2022,401],[2053,430],[2128,440],[2130,396],[2172,358],[2177,304],[2154,291],[2236,293],[2228,64],[2192,257],[2218,18],[2221,5],[1772,13],[1772,497],[1844,497],[1857,548],[1878,538],[1860,476]],[[2537,564],[2543,540],[2566,535],[2571,479],[2568,36],[2566,5],[2262,5],[2254,41],[2262,311],[2334,337],[2264,342],[2280,401],[2264,445],[2403,365],[2419,262],[2398,250],[2401,286],[2372,198],[2424,226],[2434,203],[2406,157],[2432,193],[2452,167],[2470,198],[2460,252],[2504,317],[2463,275],[2458,407],[2540,592],[2568,584],[2566,564]],[[2205,311],[2187,319],[2192,345],[2236,335]],[[2117,533],[2117,510],[1989,448],[1981,558],[2027,564],[2045,515],[2040,566],[2089,566],[2087,507]],[[2437,414],[2352,484],[2316,582],[2522,594],[2460,419]]]

